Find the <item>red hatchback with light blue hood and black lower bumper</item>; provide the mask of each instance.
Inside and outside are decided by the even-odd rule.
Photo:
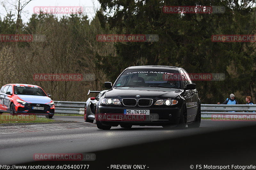
[[[0,114],[36,114],[52,118],[54,102],[38,85],[7,84],[0,90]]]

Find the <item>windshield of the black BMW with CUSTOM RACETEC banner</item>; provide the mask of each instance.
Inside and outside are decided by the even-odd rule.
[[[181,89],[180,78],[176,70],[139,69],[125,70],[117,79],[114,87],[143,86]]]

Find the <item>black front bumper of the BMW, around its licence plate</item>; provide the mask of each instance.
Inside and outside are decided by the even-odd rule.
[[[124,109],[149,110],[149,115],[125,115]],[[181,107],[153,106],[153,107],[124,107],[124,106],[99,106],[96,121],[103,125],[118,126],[121,124],[140,126],[162,126],[178,124]]]

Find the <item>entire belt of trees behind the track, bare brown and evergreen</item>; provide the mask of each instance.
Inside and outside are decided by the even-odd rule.
[[[86,100],[88,89],[103,89],[104,81],[114,82],[129,66],[172,65],[183,67],[189,73],[226,75],[225,81],[195,81],[202,103],[223,102],[230,93],[236,95],[239,103],[245,103],[246,95],[256,102],[255,43],[211,40],[214,34],[255,34],[256,15],[252,6],[255,1],[99,2],[101,9],[92,21],[83,14],[62,18],[33,14],[27,25],[20,27],[19,33],[44,34],[44,42],[1,42],[1,57],[14,57],[16,70],[20,70],[19,77],[12,80],[38,84],[31,79],[34,73],[93,73],[96,75],[93,82],[39,83],[55,96],[55,100],[81,101]],[[167,14],[162,11],[165,5],[224,6],[225,13]],[[0,32],[16,32],[15,15],[10,13],[0,21]],[[97,34],[158,34],[159,41],[99,42]],[[40,67],[42,65],[46,68]],[[3,78],[2,82],[9,83],[9,79]],[[83,99],[81,94],[76,94],[77,89],[84,89]]]

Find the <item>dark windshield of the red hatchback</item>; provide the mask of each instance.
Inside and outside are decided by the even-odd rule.
[[[41,88],[28,86],[14,86],[14,94],[46,96]]]

